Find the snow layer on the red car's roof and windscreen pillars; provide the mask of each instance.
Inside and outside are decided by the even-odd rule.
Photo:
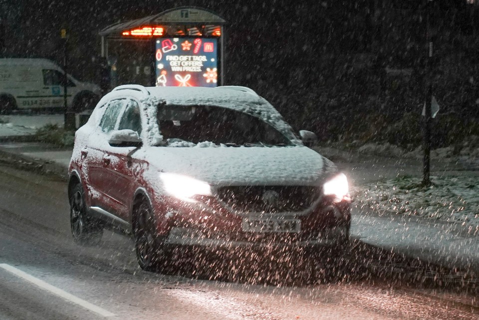
[[[245,91],[229,88],[204,88],[204,87],[149,87],[151,96],[144,98],[141,102],[148,109],[147,118],[155,119],[158,105],[198,105],[198,106],[219,106],[257,117],[283,133],[295,144],[301,145],[292,134],[291,127],[287,124],[281,114],[264,98]],[[149,122],[148,119],[146,119]],[[144,123],[147,130],[153,129],[152,123]],[[159,132],[148,132],[150,141]],[[161,136],[161,135],[160,135]],[[155,145],[155,143],[152,143]]]

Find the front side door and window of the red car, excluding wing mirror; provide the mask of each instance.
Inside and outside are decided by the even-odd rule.
[[[134,100],[129,100],[119,116],[117,130],[133,130],[141,136],[140,106]],[[141,148],[141,147],[140,147]],[[114,207],[112,213],[124,220],[128,220],[130,201],[136,189],[136,179],[139,174],[139,160],[135,153],[139,147],[108,146],[105,150],[105,159],[109,163],[105,166],[108,180],[106,195],[112,199]]]

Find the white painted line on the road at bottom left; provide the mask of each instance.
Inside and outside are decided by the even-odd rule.
[[[112,314],[111,312],[105,310],[105,309],[102,309],[100,307],[97,307],[93,304],[90,304],[89,302],[87,301],[84,301],[83,299],[80,299],[78,297],[75,297],[61,289],[58,289],[52,285],[49,285],[47,284],[46,282],[40,280],[40,279],[37,279],[33,276],[30,276],[29,274],[21,271],[21,270],[18,270],[16,269],[15,267],[12,267],[10,265],[7,265],[7,264],[0,264],[0,268],[14,274],[15,276],[19,277],[19,278],[22,278],[38,287],[40,287],[41,289],[43,290],[46,290],[46,291],[49,291],[51,292],[52,294],[54,295],[57,295],[58,297],[60,298],[63,298],[65,300],[68,300],[74,304],[77,304],[85,309],[88,309],[100,316],[103,316],[103,317],[114,317],[116,316],[115,314]]]

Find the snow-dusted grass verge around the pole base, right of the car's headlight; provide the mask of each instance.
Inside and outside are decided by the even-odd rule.
[[[353,192],[359,207],[379,214],[396,213],[479,227],[479,177],[431,177],[423,187],[421,178],[402,177],[369,183]]]

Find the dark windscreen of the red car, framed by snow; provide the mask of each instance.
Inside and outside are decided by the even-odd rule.
[[[158,124],[163,140],[170,145],[183,141],[226,146],[293,145],[261,119],[217,106],[160,106]]]

